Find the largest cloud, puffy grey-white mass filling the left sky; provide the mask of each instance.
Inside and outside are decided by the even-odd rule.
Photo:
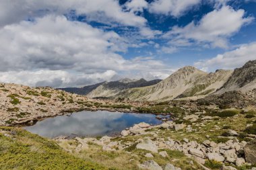
[[[0,81],[11,83],[80,86],[112,79],[119,72],[165,67],[154,58],[126,60],[116,53],[127,50],[118,34],[64,16],[4,26],[0,43]]]

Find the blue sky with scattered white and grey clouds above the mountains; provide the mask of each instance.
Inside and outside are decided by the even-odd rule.
[[[0,81],[83,87],[256,59],[255,0],[0,0]]]

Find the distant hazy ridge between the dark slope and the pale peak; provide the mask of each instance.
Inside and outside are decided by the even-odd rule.
[[[105,82],[90,93],[88,93],[87,97],[115,97],[118,93],[120,93],[120,91],[123,91],[125,89],[155,85],[160,81],[160,79],[152,81],[146,81],[145,79],[121,79],[120,81]]]

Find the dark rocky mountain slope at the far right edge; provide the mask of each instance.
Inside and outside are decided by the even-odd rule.
[[[250,60],[241,68],[234,69],[232,76],[216,94],[226,91],[250,91],[256,89],[256,60]]]

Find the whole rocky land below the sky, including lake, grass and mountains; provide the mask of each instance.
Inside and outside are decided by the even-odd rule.
[[[254,170],[255,70],[184,67],[87,95],[1,83],[0,167]]]

